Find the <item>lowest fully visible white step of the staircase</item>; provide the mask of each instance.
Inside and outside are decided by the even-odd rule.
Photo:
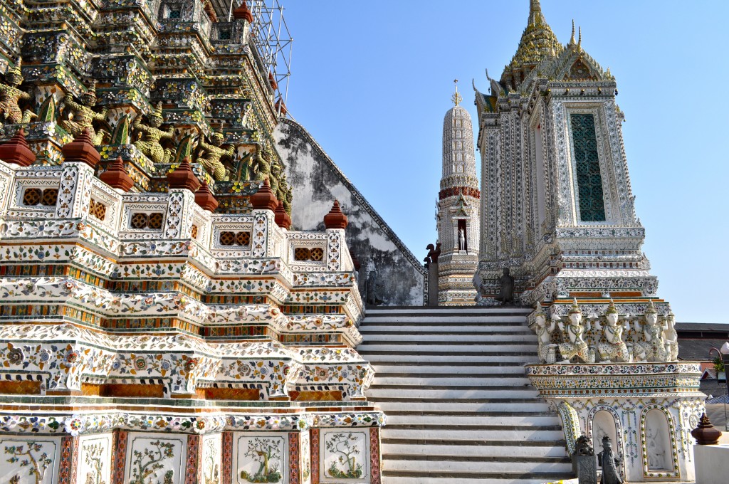
[[[491,462],[491,461],[448,461],[432,456],[429,460],[388,460],[383,470],[418,472],[572,472],[572,464],[556,462]]]

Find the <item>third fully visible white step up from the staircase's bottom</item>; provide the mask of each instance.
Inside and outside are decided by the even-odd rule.
[[[564,440],[561,430],[523,429],[506,431],[466,430],[458,427],[449,429],[401,429],[393,426],[382,428],[383,439],[433,439],[433,440],[480,440],[488,445],[489,440],[506,442]]]

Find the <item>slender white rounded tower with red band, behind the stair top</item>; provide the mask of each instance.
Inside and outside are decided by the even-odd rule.
[[[480,191],[473,149],[473,127],[456,92],[443,118],[443,176],[438,193],[437,230],[441,243],[438,304],[472,304],[472,278],[478,265]]]

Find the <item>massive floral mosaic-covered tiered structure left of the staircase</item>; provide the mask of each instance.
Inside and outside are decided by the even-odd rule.
[[[346,215],[290,230],[229,7],[0,0],[3,482],[381,482]]]

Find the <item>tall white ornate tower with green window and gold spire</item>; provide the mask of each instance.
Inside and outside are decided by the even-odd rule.
[[[521,302],[650,297],[658,281],[640,250],[615,78],[582,48],[561,44],[538,0],[512,61],[476,91],[484,301],[502,268]],[[628,311],[635,313],[635,311]]]

